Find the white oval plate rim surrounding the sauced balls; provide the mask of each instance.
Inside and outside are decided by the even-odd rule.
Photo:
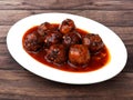
[[[105,67],[91,72],[62,71],[42,64],[23,50],[22,37],[28,29],[45,21],[61,23],[68,18],[72,19],[78,28],[100,34],[111,54],[111,61]],[[18,21],[8,32],[7,46],[14,60],[27,70],[45,79],[72,84],[90,84],[111,79],[122,71],[127,59],[125,46],[113,31],[94,20],[68,13],[42,13]]]

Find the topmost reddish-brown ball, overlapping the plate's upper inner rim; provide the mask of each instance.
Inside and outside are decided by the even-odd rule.
[[[74,21],[71,19],[63,20],[59,28],[60,32],[64,34],[71,32],[74,29],[75,29],[75,24]]]

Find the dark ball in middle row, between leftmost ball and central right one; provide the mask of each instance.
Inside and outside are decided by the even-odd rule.
[[[44,37],[44,44],[49,48],[52,44],[62,42],[62,33],[58,31],[49,31]]]

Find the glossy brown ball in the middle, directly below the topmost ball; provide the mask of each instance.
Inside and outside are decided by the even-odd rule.
[[[63,36],[62,43],[66,47],[81,43],[81,36],[76,32],[70,32]]]

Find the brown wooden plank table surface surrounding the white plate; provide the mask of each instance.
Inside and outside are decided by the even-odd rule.
[[[45,12],[79,14],[111,28],[127,49],[124,70],[101,83],[72,86],[23,69],[7,49],[7,33],[20,19]],[[0,100],[12,99],[133,100],[133,0],[0,0]]]

